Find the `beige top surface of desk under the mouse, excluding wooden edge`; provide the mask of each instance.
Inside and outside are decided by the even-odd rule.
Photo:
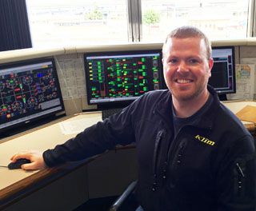
[[[96,117],[98,121],[101,121],[101,116],[98,113],[86,113],[77,115],[71,118],[67,118],[63,121],[75,121],[83,118]],[[24,133],[18,137],[14,137],[11,141],[5,141],[1,144],[1,165],[8,165],[10,163],[10,157],[14,153],[21,150],[38,149],[45,151],[46,149],[54,148],[55,145],[62,144],[71,137],[74,137],[75,133],[64,135],[61,131],[58,122],[55,124],[47,125],[44,128],[36,129],[30,133]],[[5,189],[7,186],[14,184],[26,177],[37,175],[40,172],[49,172],[49,169],[43,171],[23,171],[22,169],[9,170],[7,168],[1,168],[0,173],[4,173],[6,179],[0,180],[0,189]]]

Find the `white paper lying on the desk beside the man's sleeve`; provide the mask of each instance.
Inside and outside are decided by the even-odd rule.
[[[58,125],[62,129],[62,134],[70,135],[74,133],[80,133],[87,127],[96,124],[98,121],[100,121],[99,117],[90,117],[80,120],[62,121],[58,123]]]

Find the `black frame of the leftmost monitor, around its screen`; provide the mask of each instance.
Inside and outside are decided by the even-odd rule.
[[[13,125],[8,125],[2,129],[0,129],[0,132],[3,131],[9,131],[10,133],[19,133],[19,131],[23,131],[22,127],[26,130],[26,129],[30,129],[30,128],[34,128],[34,126],[38,126],[41,125],[41,123],[43,124],[44,122],[46,122],[49,118],[49,121],[53,120],[54,117],[57,117],[58,113],[62,113],[60,114],[60,116],[62,116],[63,114],[65,115],[65,112],[63,113],[63,111],[65,111],[65,106],[64,106],[64,102],[63,102],[63,98],[62,98],[62,91],[61,91],[61,87],[59,84],[59,80],[58,80],[58,71],[57,71],[57,67],[56,67],[56,62],[54,60],[54,58],[34,58],[34,59],[30,59],[30,60],[21,60],[21,61],[15,61],[15,62],[6,62],[6,63],[2,63],[0,64],[0,72],[1,70],[4,69],[8,69],[8,68],[14,68],[14,67],[18,67],[18,66],[28,66],[28,65],[33,65],[33,64],[37,64],[37,63],[43,63],[43,62],[52,62],[53,64],[53,71],[56,74],[56,81],[55,81],[55,85],[58,87],[58,98],[60,101],[60,106],[61,109],[58,110],[54,110],[51,111],[50,113],[44,113],[41,116],[38,117],[31,117],[29,120],[23,120],[20,121],[18,123],[14,123]],[[28,115],[30,116],[30,115]],[[20,127],[22,126],[22,127]],[[12,131],[14,130],[14,131]],[[9,135],[6,135],[9,136]]]

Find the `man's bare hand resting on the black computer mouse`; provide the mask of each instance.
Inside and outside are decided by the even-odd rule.
[[[19,158],[26,158],[30,160],[30,163],[22,165],[22,169],[24,170],[43,169],[46,167],[46,163],[42,157],[42,152],[38,150],[27,150],[16,153],[12,157],[10,157],[10,160],[12,162],[15,162]]]

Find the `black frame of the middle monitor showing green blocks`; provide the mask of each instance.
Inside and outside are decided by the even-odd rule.
[[[93,57],[93,56],[114,56],[114,55],[138,55],[138,54],[159,54],[160,58],[160,71],[159,71],[159,90],[165,89],[165,82],[163,79],[163,72],[162,72],[162,49],[151,49],[151,50],[113,50],[113,51],[98,51],[98,52],[90,52],[90,53],[84,53],[84,66],[85,66],[85,75],[86,75],[86,98],[88,105],[97,105],[97,106],[106,106],[106,107],[124,107],[128,106],[131,102],[134,102],[135,99],[139,98],[134,97],[133,99],[126,98],[123,101],[109,101],[109,102],[90,102],[90,96],[88,90],[90,90],[89,87],[89,67],[87,61],[87,57]]]

